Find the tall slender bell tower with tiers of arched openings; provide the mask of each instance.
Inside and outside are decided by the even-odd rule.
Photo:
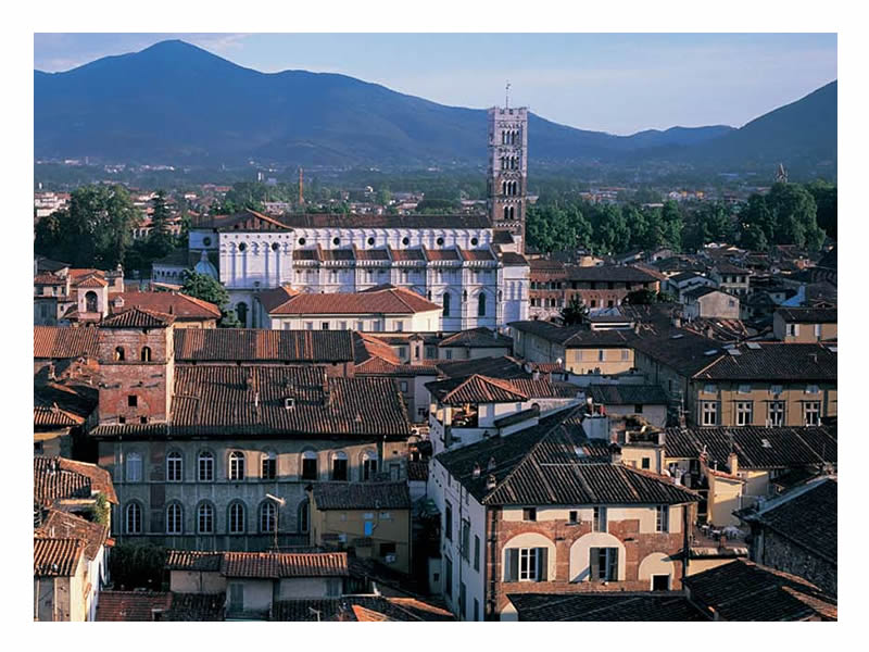
[[[509,84],[507,84],[509,93]],[[525,250],[525,211],[528,179],[528,108],[489,109],[489,215],[494,228],[521,238]]]

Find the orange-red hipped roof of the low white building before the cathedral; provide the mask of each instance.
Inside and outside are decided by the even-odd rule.
[[[272,315],[414,314],[441,310],[416,292],[392,287],[333,294],[291,293],[278,288],[263,292],[261,301]]]

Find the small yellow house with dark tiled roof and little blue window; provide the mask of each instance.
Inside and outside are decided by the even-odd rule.
[[[311,544],[352,549],[402,573],[411,572],[407,482],[313,485]]]

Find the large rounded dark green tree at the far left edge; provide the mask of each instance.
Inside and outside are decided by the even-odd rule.
[[[35,248],[76,267],[112,269],[124,263],[140,222],[123,186],[81,186],[67,209],[39,221]]]

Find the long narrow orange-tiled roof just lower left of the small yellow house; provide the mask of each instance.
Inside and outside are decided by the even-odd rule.
[[[347,577],[345,552],[275,553],[225,552],[221,561],[225,577]]]

